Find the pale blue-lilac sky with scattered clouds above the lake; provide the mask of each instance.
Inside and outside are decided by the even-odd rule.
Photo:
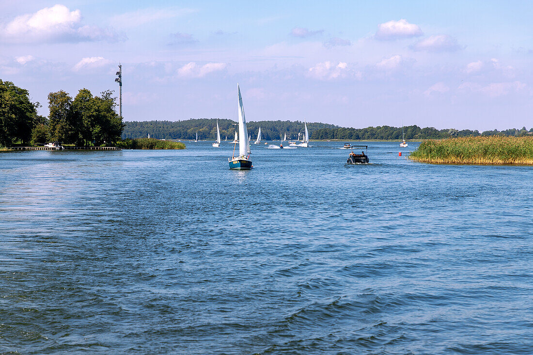
[[[533,126],[531,1],[0,0],[0,79],[115,90],[124,120]]]

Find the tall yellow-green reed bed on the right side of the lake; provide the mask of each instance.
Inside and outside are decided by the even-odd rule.
[[[533,137],[480,136],[426,140],[409,158],[433,164],[533,165]]]

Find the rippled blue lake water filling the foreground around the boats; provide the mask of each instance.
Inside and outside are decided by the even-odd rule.
[[[533,167],[186,144],[0,154],[0,353],[533,353]]]

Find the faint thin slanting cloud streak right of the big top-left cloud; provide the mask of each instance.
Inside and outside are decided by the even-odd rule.
[[[138,27],[145,23],[173,19],[194,12],[196,12],[194,9],[181,9],[179,7],[167,7],[166,9],[148,8],[116,15],[111,18],[111,22],[123,28]]]

